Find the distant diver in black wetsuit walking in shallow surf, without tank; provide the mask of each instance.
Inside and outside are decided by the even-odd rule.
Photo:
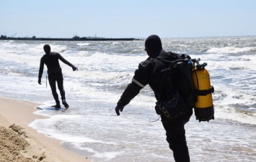
[[[65,108],[69,108],[68,103],[66,103],[65,98],[65,90],[63,88],[63,75],[61,72],[61,66],[58,62],[58,59],[60,59],[62,62],[64,62],[66,65],[69,65],[72,67],[73,71],[78,70],[77,67],[72,65],[70,62],[68,62],[66,59],[64,59],[61,54],[57,52],[50,52],[50,45],[45,44],[43,47],[45,54],[40,60],[40,69],[38,74],[38,84],[41,85],[41,77],[43,75],[43,67],[46,65],[48,68],[48,80],[50,83],[50,89],[53,93],[54,100],[56,101],[56,105],[53,105],[52,107],[55,108],[61,108],[60,101],[58,100],[58,93],[56,92],[56,82],[58,84],[58,90],[60,90],[61,93],[61,100],[62,104]]]

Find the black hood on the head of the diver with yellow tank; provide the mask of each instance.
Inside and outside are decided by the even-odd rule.
[[[161,39],[157,35],[149,36],[145,41],[145,48],[149,57],[157,57],[162,50]]]

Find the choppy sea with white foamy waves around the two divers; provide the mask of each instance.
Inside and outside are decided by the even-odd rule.
[[[38,106],[55,104],[46,66],[42,85],[37,83],[44,44],[50,44],[52,52],[59,52],[78,71],[60,62],[70,108],[35,107],[35,114],[47,118],[34,120],[30,127],[95,162],[174,161],[148,85],[120,116],[115,113],[138,64],[148,57],[144,40],[1,40],[1,97]],[[215,89],[214,120],[199,122],[192,115],[185,125],[190,160],[256,161],[256,36],[162,38],[162,45],[166,51],[206,62]]]

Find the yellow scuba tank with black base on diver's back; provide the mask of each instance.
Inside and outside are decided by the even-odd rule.
[[[207,63],[200,65],[199,61],[200,59],[193,59],[197,65],[192,71],[192,79],[197,95],[194,106],[195,118],[200,122],[214,119],[213,97],[211,95],[214,88],[211,86],[209,72],[205,69]]]

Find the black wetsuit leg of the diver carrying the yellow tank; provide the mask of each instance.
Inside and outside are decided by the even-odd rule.
[[[183,120],[170,122],[166,118],[162,118],[162,124],[166,130],[167,142],[169,143],[169,148],[173,151],[175,161],[189,162],[190,156],[187,148]]]

